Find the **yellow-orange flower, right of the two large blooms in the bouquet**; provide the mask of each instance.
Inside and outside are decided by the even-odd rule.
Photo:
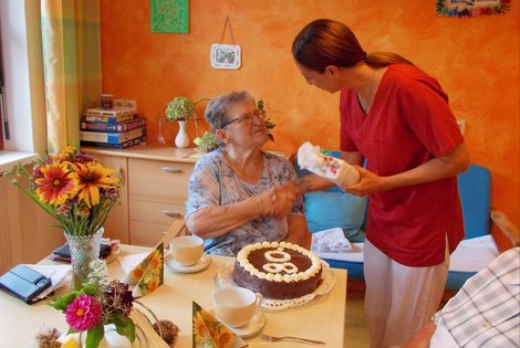
[[[100,203],[100,189],[110,189],[115,187],[119,179],[112,177],[116,170],[103,168],[97,162],[71,164],[71,167],[77,173],[80,186],[80,200],[83,200],[89,208]]]

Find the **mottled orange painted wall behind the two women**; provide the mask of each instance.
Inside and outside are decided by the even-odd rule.
[[[471,161],[492,171],[493,208],[520,225],[520,14],[511,3],[503,15],[458,19],[436,17],[434,0],[190,0],[189,33],[169,34],[150,32],[149,1],[101,0],[103,92],[136,99],[154,140],[174,96],[197,101],[246,88],[266,101],[277,124],[269,148],[294,151],[305,140],[337,148],[339,95],[306,85],[290,54],[304,24],[336,19],[366,51],[401,53],[437,77],[466,120]],[[238,71],[209,64],[226,15],[242,49]],[[165,125],[168,143],[176,130]]]

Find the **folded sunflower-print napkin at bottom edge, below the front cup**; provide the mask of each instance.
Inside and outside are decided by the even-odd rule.
[[[193,302],[194,348],[202,347],[247,347],[247,344],[217,320],[209,312]]]

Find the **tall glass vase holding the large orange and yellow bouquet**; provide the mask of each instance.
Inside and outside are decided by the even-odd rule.
[[[54,218],[64,231],[71,250],[72,287],[81,288],[90,262],[98,259],[103,224],[119,199],[117,171],[67,147],[34,162],[32,170],[15,165],[4,175],[9,173],[29,180],[28,188],[17,179],[12,183]]]

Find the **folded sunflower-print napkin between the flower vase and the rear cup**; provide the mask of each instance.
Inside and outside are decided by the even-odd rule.
[[[164,243],[157,246],[135,266],[122,281],[136,284],[132,294],[135,298],[155,291],[164,283]]]

